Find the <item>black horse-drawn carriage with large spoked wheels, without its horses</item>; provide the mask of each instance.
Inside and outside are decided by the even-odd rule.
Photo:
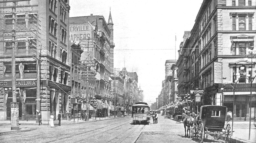
[[[201,106],[199,120],[195,121],[195,126],[193,127],[193,138],[200,138],[200,143],[203,143],[204,135],[211,134],[214,139],[219,139],[220,135],[224,135],[225,142],[229,143],[231,126],[227,124],[226,128],[224,128],[226,115],[226,106]]]

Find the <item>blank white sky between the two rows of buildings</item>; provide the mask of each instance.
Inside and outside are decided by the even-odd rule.
[[[165,61],[178,59],[184,31],[193,28],[203,0],[70,0],[70,17],[103,15],[114,23],[114,67],[137,72],[144,101],[156,102]],[[175,35],[176,52],[175,52]],[[149,50],[152,49],[152,50]],[[165,49],[165,50],[163,50]]]

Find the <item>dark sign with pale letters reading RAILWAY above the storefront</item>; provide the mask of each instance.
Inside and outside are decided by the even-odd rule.
[[[1,87],[11,87],[11,81],[0,81]],[[16,80],[17,87],[36,87],[36,80]]]

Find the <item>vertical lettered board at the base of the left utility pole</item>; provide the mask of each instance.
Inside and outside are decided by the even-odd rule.
[[[19,129],[19,103],[11,102],[11,130]]]

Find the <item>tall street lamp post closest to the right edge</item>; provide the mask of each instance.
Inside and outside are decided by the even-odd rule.
[[[253,82],[253,80],[255,79],[255,77],[256,76],[254,76],[254,78],[252,79],[252,58],[254,57],[256,57],[256,51],[254,50],[253,51],[253,49],[254,49],[254,47],[253,46],[250,46],[250,50],[248,51],[248,53],[249,53],[249,55],[245,55],[245,61],[247,61],[248,60],[248,56],[251,56],[251,75],[248,75],[248,76],[250,76],[251,78],[251,81],[250,81],[250,83],[251,83],[251,89],[250,89],[250,116],[249,116],[249,140],[250,140],[250,134],[251,134],[251,96],[252,96],[252,82]],[[256,72],[256,70],[255,70],[255,72]]]

